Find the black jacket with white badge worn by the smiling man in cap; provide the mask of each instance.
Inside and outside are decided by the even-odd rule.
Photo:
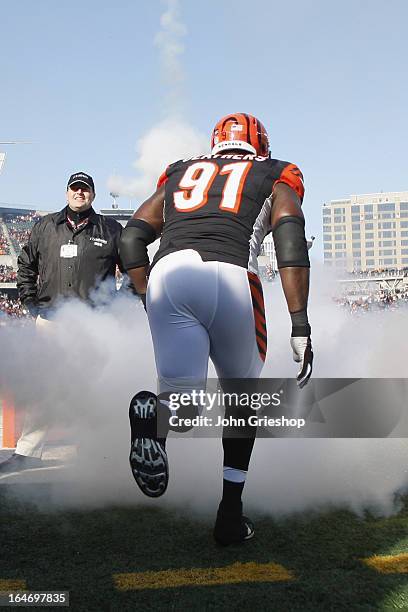
[[[64,208],[40,219],[18,258],[17,289],[23,304],[47,315],[60,298],[92,303],[92,290],[115,278],[119,260],[120,223],[93,209],[88,224],[73,231]],[[77,256],[62,257],[63,245],[77,245]],[[75,247],[74,247],[75,248]]]

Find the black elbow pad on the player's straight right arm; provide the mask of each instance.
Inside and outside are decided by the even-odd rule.
[[[282,217],[273,229],[278,268],[310,268],[305,222],[300,217]]]

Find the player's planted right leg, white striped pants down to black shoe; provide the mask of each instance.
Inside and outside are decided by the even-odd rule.
[[[233,313],[233,316],[232,316]],[[262,286],[246,270],[220,264],[217,314],[210,329],[211,359],[224,392],[236,391],[228,379],[258,378],[266,356],[266,322]],[[247,420],[249,413],[231,402],[225,416]],[[221,544],[253,536],[253,525],[242,515],[241,496],[256,436],[256,427],[229,425],[223,431],[223,495],[214,536]]]

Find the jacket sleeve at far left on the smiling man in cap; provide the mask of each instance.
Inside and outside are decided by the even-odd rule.
[[[17,290],[23,304],[37,299],[38,278],[38,241],[41,221],[38,221],[31,232],[26,245],[23,246],[17,259]]]

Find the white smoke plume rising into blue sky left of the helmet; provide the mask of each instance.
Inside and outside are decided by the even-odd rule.
[[[154,38],[160,56],[164,118],[137,142],[137,158],[132,164],[136,176],[112,175],[108,180],[110,192],[135,198],[137,204],[154,192],[157,179],[168,164],[206,153],[209,149],[209,137],[184,118],[187,96],[183,89],[182,54],[187,29],[180,18],[178,0],[166,0],[165,4],[166,10],[160,18],[161,29]]]

